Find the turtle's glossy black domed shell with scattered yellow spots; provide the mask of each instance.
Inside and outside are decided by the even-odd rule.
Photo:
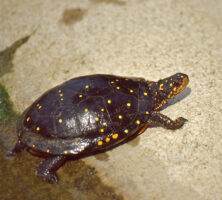
[[[57,155],[107,149],[143,128],[153,109],[144,79],[78,77],[47,91],[23,113],[19,138]]]

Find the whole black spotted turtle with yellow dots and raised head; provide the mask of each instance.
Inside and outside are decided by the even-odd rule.
[[[182,73],[158,82],[112,75],[71,79],[47,91],[22,114],[12,154],[28,150],[46,155],[37,175],[57,182],[55,171],[70,157],[108,150],[147,127],[183,126],[186,119],[171,120],[159,110],[188,81]]]

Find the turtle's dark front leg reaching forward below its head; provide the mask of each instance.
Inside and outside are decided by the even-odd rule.
[[[185,122],[187,122],[187,119],[183,117],[179,117],[176,120],[172,120],[166,115],[163,115],[159,112],[151,112],[151,125],[152,126],[162,126],[167,129],[178,129],[182,127]]]

